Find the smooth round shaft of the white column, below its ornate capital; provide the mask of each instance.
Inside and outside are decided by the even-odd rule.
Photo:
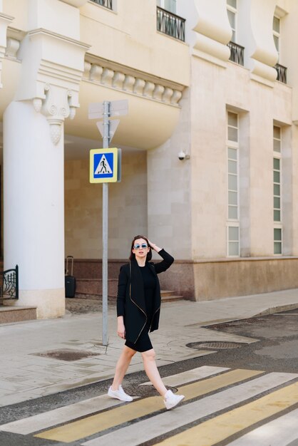
[[[65,312],[61,126],[54,141],[32,101],[4,113],[4,269],[19,265],[16,304],[37,306],[38,318]]]

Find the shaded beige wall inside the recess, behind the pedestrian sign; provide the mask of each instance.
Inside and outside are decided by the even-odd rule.
[[[66,255],[101,259],[102,186],[89,183],[89,160],[65,165]],[[147,234],[147,162],[145,152],[125,153],[122,180],[109,185],[110,259],[126,259],[135,234]]]

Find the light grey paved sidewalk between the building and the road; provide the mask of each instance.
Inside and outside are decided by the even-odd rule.
[[[94,305],[88,308],[87,302],[77,299],[71,304],[75,312],[68,311],[63,318],[0,325],[0,406],[113,377],[123,346],[123,340],[115,334],[115,304],[108,311],[108,347],[101,345],[99,305],[98,308]],[[89,312],[76,313],[83,305],[87,305]],[[254,342],[251,338],[220,333],[203,326],[291,308],[298,308],[298,289],[218,301],[165,303],[160,329],[150,336],[157,363],[160,366],[213,353],[186,347],[190,342]],[[56,352],[56,358],[39,356],[51,351]],[[76,352],[83,357],[74,361]],[[71,361],[66,361],[67,355],[71,355]],[[128,373],[138,370],[143,370],[143,363],[137,353]]]

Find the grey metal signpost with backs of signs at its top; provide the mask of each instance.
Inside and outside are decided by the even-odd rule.
[[[110,120],[112,116],[126,115],[128,112],[127,100],[113,102],[93,103],[89,105],[89,119],[103,119],[103,125],[96,123],[103,137],[103,151],[108,149],[118,126],[119,120]],[[118,159],[120,152],[118,150]],[[118,166],[119,168],[120,166]],[[119,181],[119,175],[118,175]],[[108,345],[108,182],[103,182],[103,346]]]

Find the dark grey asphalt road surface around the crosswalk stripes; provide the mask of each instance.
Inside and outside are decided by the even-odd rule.
[[[251,318],[244,321],[224,323],[209,326],[208,328],[254,338],[255,342],[242,346],[235,346],[232,343],[230,345],[220,345],[220,343],[217,343],[216,346],[210,346],[210,350],[216,351],[217,353],[192,358],[188,361],[178,361],[177,363],[160,367],[160,375],[162,377],[182,373],[185,370],[192,370],[202,365],[232,369],[264,370],[265,372],[298,373],[298,310]],[[200,344],[193,344],[192,348],[202,349],[202,346]],[[206,346],[204,346],[204,349],[206,349]],[[147,380],[148,378],[143,372],[127,375],[125,378],[125,390],[130,395],[138,394],[140,397],[157,395],[151,386],[137,388],[140,383]],[[111,380],[101,381],[96,384],[86,385],[83,388],[68,390],[56,395],[49,395],[44,398],[37,398],[36,400],[0,408],[0,424],[20,420],[38,413],[45,413],[48,410],[93,398],[96,395],[106,393],[108,385],[110,384]],[[205,420],[209,418],[206,417]],[[195,424],[190,423],[189,427],[193,425]],[[180,432],[180,430],[178,429],[177,432]],[[159,438],[159,440],[163,440],[163,437]],[[82,442],[83,440],[78,440],[68,444],[81,445]],[[33,435],[0,432],[1,446],[48,446],[65,444],[64,442],[37,438]],[[154,442],[144,443],[146,446],[151,444],[153,445]],[[228,443],[218,443],[218,445],[225,444]],[[297,442],[292,442],[291,446],[297,446]]]

